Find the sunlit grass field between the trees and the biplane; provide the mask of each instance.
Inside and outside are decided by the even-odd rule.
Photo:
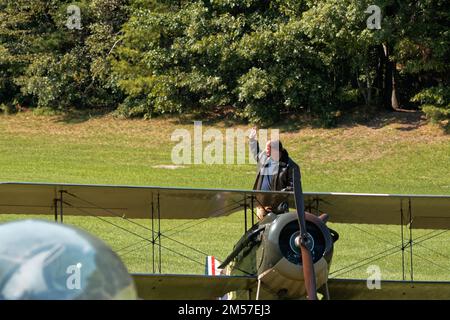
[[[218,122],[213,127],[224,130],[227,125]],[[252,165],[159,167],[171,164],[175,143],[170,136],[177,128],[192,131],[193,125],[172,119],[67,118],[29,112],[0,116],[0,181],[252,187]],[[204,125],[204,130],[207,128]],[[306,191],[450,194],[450,136],[417,114],[383,114],[366,122],[346,121],[335,129],[300,123],[281,125],[280,130],[283,144],[302,166]],[[19,218],[24,217],[0,216],[2,221]],[[152,271],[151,246],[142,239],[150,237],[148,230],[120,218],[104,222],[94,217],[67,217],[65,222],[108,242],[130,271]],[[149,220],[138,222],[150,227]],[[204,253],[223,259],[244,229],[242,213],[210,220],[163,221],[161,227],[166,236],[198,250],[163,237],[165,273],[202,273]],[[367,266],[377,264],[383,278],[401,279],[402,253],[396,248],[401,241],[400,227],[332,227],[341,235],[335,246],[332,277],[367,277]],[[450,280],[450,232],[414,230],[413,235],[418,242],[413,246],[414,278]],[[405,257],[408,269],[408,250]],[[365,258],[372,260],[356,263]]]

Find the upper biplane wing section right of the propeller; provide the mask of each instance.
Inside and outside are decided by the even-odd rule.
[[[450,228],[450,196],[445,195],[305,193],[305,208],[327,213],[332,222]]]

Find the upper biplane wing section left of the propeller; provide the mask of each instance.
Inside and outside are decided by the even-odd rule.
[[[0,183],[0,214],[125,216],[200,219],[274,203],[283,192],[42,183]]]

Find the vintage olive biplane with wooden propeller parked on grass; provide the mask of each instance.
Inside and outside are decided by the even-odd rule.
[[[132,274],[143,299],[450,298],[450,282],[383,280],[383,290],[371,290],[364,279],[330,279],[339,236],[326,225],[450,229],[450,196],[303,193],[300,177],[294,177],[293,192],[5,182],[0,183],[0,214],[51,214],[59,223],[66,216],[151,219],[147,240],[154,251],[163,247],[162,219],[243,212],[245,233],[220,263],[221,274]],[[282,203],[291,209],[255,221],[257,206]],[[402,250],[412,250],[412,243],[402,239]],[[153,254],[155,263],[161,261]]]

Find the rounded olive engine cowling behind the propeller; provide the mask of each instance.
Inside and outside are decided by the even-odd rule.
[[[305,213],[305,218],[309,233],[307,245],[312,252],[316,283],[320,288],[328,279],[336,238],[325,225],[325,216],[319,218]],[[258,274],[265,291],[270,292],[270,295],[279,298],[300,298],[306,295],[301,253],[295,245],[298,235],[296,212],[276,216],[264,230],[257,253]]]

